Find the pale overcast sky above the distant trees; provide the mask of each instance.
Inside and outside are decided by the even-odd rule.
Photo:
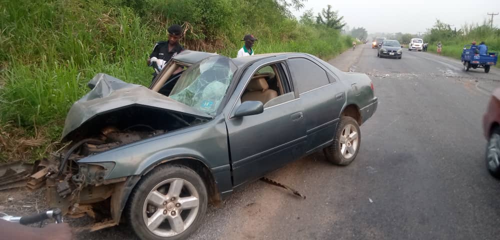
[[[500,12],[500,0],[306,0],[305,7],[292,11],[299,19],[312,8],[317,13],[330,4],[344,21],[352,27],[363,26],[368,34],[374,32],[403,32],[417,34],[425,31],[436,18],[451,28],[461,28],[467,23],[490,19],[486,13]],[[493,24],[500,26],[500,15],[493,17]]]

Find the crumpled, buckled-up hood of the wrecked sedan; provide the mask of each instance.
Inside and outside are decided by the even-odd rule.
[[[202,118],[212,116],[173,100],[151,89],[124,82],[104,73],[97,73],[89,82],[92,88],[74,102],[67,113],[62,138],[96,115],[131,105],[145,105]]]

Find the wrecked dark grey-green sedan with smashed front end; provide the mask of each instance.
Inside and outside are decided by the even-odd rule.
[[[66,117],[68,150],[37,175],[50,206],[106,220],[91,230],[125,219],[141,239],[187,238],[208,203],[307,154],[349,164],[377,108],[367,75],[306,53],[186,50],[149,88],[103,73],[88,85]]]

